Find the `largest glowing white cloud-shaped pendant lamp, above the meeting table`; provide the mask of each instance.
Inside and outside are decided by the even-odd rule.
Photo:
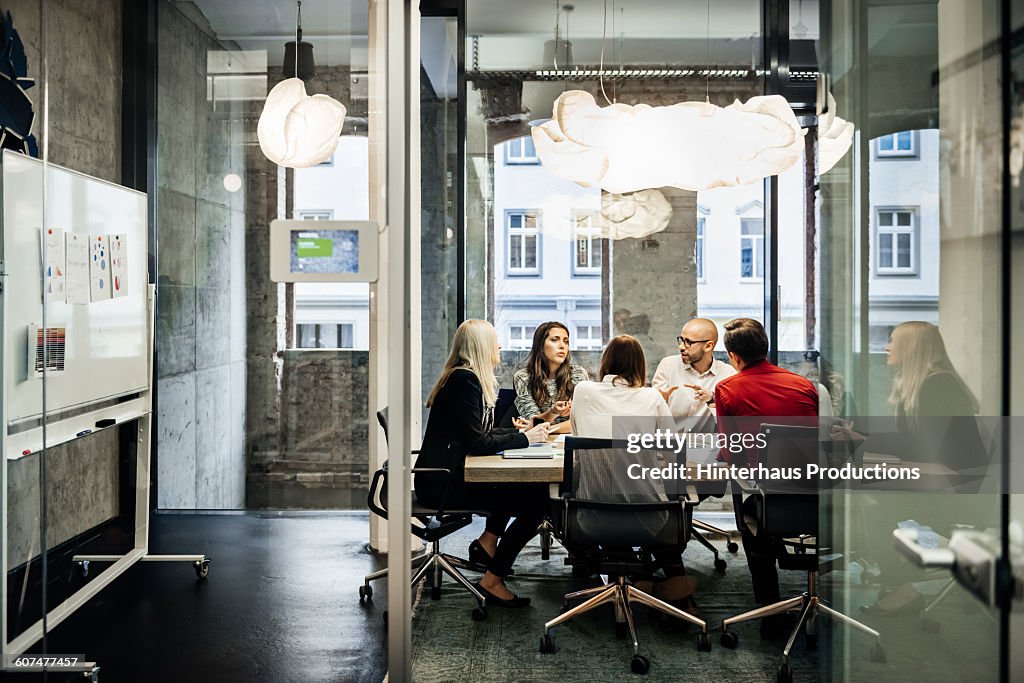
[[[756,182],[800,159],[804,132],[781,95],[724,109],[709,102],[598,106],[589,92],[569,90],[532,136],[551,173],[621,195]]]

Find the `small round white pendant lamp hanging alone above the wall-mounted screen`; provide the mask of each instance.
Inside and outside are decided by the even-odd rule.
[[[279,166],[308,168],[338,146],[345,105],[327,95],[307,95],[301,79],[273,86],[256,125],[260,150]]]

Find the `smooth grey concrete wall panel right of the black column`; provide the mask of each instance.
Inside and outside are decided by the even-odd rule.
[[[158,6],[158,507],[245,506],[243,112],[207,98],[208,30]]]

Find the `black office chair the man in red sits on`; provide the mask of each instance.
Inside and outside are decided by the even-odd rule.
[[[765,467],[799,467],[819,461],[818,428],[790,425],[761,425],[764,447],[761,450],[761,464]],[[817,647],[817,617],[819,614],[851,626],[874,638],[870,657],[874,661],[885,661],[885,650],[878,631],[839,612],[824,604],[817,592],[817,577],[821,569],[830,569],[830,560],[821,562],[818,546],[818,496],[817,484],[806,479],[794,482],[772,481],[754,483],[733,480],[740,489],[761,497],[756,518],[744,516],[741,496],[734,497],[736,525],[746,524],[752,531],[764,533],[775,541],[775,558],[780,569],[807,572],[807,590],[800,596],[780,600],[730,616],[722,622],[721,643],[730,649],[739,643],[739,637],[729,627],[756,618],[800,611],[800,620],[782,650],[782,663],[778,669],[779,683],[793,681],[790,667],[790,652],[801,628],[807,625],[805,644],[808,649]]]

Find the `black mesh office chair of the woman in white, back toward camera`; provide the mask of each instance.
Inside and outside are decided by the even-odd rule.
[[[671,453],[671,452],[668,452]],[[644,674],[650,667],[640,654],[632,604],[639,602],[650,609],[700,627],[697,649],[711,649],[708,625],[692,614],[663,602],[627,583],[627,578],[653,571],[652,548],[678,548],[686,545],[689,535],[689,500],[673,500],[658,480],[631,479],[624,476],[630,465],[664,467],[655,452],[627,453],[625,442],[606,438],[569,436],[565,439],[565,458],[559,498],[552,499],[552,518],[573,553],[586,553],[608,583],[575,591],[564,596],[562,612],[544,625],[541,652],[555,651],[551,630],[580,614],[610,604],[616,621],[625,621],[633,644],[631,669]],[[584,599],[569,607],[569,602]]]

